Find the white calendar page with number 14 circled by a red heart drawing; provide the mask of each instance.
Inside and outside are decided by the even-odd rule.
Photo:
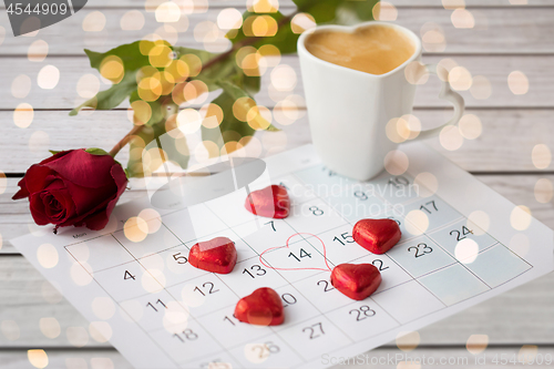
[[[408,171],[368,183],[329,173],[309,145],[267,158],[249,188],[287,186],[286,219],[248,213],[244,188],[160,217],[142,212],[145,197],[117,206],[102,232],[47,227],[13,245],[136,368],[325,368],[553,269],[551,229],[427,146],[400,150]],[[428,187],[408,191],[414,178]],[[147,235],[123,227],[137,214],[152,216]],[[386,255],[357,245],[363,217],[398,221],[400,243]],[[228,275],[187,263],[196,242],[216,236],[236,243]],[[372,263],[381,286],[349,299],[329,283],[341,263]],[[281,296],[284,325],[234,318],[259,287]]]

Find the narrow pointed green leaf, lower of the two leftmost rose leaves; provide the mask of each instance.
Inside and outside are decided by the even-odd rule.
[[[76,115],[84,106],[96,110],[110,110],[116,107],[123,102],[133,91],[136,90],[136,72],[126,72],[120,83],[113,84],[110,89],[100,91],[92,99],[73,109],[70,115]]]

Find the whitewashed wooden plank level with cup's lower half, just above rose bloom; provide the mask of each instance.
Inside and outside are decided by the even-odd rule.
[[[442,109],[418,109],[413,113],[423,127],[438,126],[451,114]],[[429,140],[432,147],[466,171],[536,171],[532,162],[535,145],[544,144],[554,152],[553,110],[471,109],[466,113],[476,115],[482,122],[482,134],[476,140],[464,140],[455,151],[441,147],[438,139]],[[9,124],[11,120],[12,112],[0,111],[0,121],[6,122],[0,136],[0,171],[6,173],[24,172],[47,157],[48,150],[110,150],[131,129],[126,111],[96,111],[76,117],[68,116],[66,111],[37,111],[28,129]],[[273,145],[293,148],[311,141],[307,115],[287,126],[275,120],[274,123],[283,127],[283,132],[257,133],[260,140],[269,140],[265,148]],[[127,157],[126,150],[117,156],[123,163]],[[547,170],[553,168],[554,162],[551,162]]]

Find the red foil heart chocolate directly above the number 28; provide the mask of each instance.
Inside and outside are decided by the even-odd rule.
[[[331,273],[331,285],[355,300],[362,300],[379,288],[381,273],[372,264],[340,264]]]

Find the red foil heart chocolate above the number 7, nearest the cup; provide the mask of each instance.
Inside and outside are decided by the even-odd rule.
[[[283,219],[290,213],[290,198],[287,188],[270,185],[249,194],[246,197],[245,207],[252,214]]]

